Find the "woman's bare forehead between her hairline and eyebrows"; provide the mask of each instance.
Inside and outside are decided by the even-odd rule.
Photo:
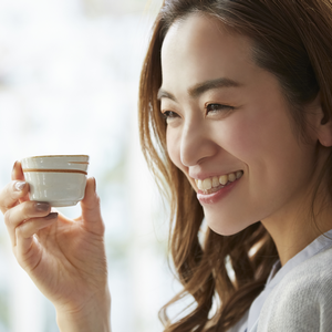
[[[245,83],[258,68],[251,61],[251,41],[229,32],[216,18],[190,14],[168,30],[162,48],[163,87],[229,77]]]

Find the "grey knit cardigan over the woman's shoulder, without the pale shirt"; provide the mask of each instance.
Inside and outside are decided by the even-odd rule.
[[[266,300],[258,331],[331,331],[332,248],[293,268]]]

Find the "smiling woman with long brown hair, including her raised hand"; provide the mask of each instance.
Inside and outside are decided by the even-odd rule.
[[[139,94],[184,284],[165,331],[330,331],[331,18],[323,0],[165,1]],[[13,251],[60,330],[110,331],[94,180],[72,221],[28,200],[18,163],[12,178],[0,205]],[[191,311],[168,319],[184,295]]]

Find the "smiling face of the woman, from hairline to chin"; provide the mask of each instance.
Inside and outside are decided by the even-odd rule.
[[[193,14],[170,27],[162,49],[168,154],[221,235],[284,222],[315,169],[317,139],[298,139],[277,79],[250,48],[216,19]]]

